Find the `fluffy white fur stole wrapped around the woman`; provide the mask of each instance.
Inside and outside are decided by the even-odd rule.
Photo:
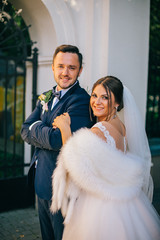
[[[58,157],[51,211],[61,208],[69,221],[81,189],[106,200],[129,200],[141,190],[145,167],[138,156],[115,150],[89,129],[80,129]]]

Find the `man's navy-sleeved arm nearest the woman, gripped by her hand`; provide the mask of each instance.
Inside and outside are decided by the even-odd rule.
[[[87,98],[83,95],[70,98],[66,103],[64,112],[68,112],[71,117],[72,132],[81,127],[91,126],[88,96]],[[24,124],[26,124],[26,122]],[[22,135],[24,136],[24,134]],[[62,147],[60,130],[58,128],[53,129],[52,126],[46,126],[44,122],[34,124],[31,130],[27,132],[27,136],[23,137],[24,141],[27,139],[29,139],[29,144],[39,148],[56,151]]]

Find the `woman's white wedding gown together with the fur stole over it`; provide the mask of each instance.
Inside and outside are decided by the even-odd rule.
[[[80,129],[63,146],[53,174],[51,211],[61,209],[65,218],[63,240],[159,240],[160,218],[147,196],[151,162],[147,150],[135,152],[141,142],[145,148],[143,139],[127,149],[119,135],[122,152],[101,122],[93,127],[106,142]]]

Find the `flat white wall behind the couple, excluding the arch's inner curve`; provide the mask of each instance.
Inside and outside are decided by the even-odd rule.
[[[43,2],[55,25],[57,44],[75,44],[84,56],[81,85],[90,90],[102,76],[119,77],[131,89],[145,118],[150,1]]]

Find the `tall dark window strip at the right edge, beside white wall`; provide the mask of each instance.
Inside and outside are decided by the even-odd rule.
[[[150,3],[149,74],[146,131],[153,141],[160,139],[160,0]]]

